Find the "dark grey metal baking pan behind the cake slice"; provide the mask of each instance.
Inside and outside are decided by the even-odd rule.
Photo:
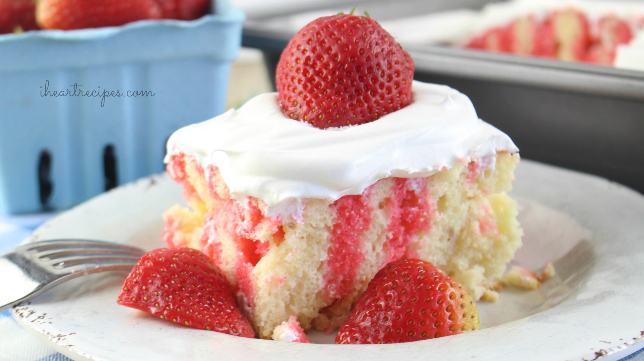
[[[478,9],[488,2],[363,1],[360,6],[384,21]],[[346,7],[322,10],[333,14]],[[244,24],[242,45],[264,52],[271,76],[295,35],[280,26],[290,15],[254,14]],[[417,80],[467,94],[478,116],[511,136],[522,157],[594,173],[644,193],[644,72],[440,45],[403,47],[414,58]]]

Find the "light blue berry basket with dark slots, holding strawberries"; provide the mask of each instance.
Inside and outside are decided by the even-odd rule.
[[[244,15],[216,4],[195,21],[0,35],[0,213],[162,172],[167,138],[224,110]]]

